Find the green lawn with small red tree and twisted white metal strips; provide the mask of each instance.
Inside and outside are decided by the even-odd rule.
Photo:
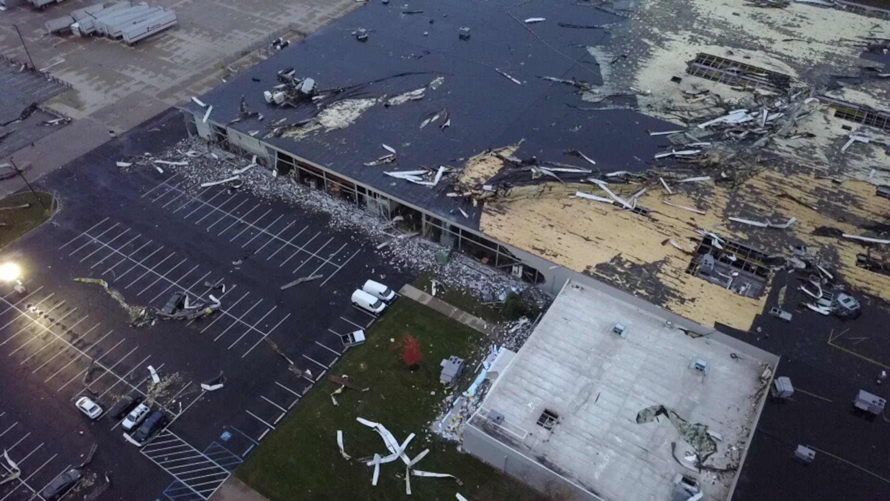
[[[411,373],[392,349],[405,333],[412,334],[424,355],[420,368]],[[332,368],[332,374],[347,374],[352,381],[370,390],[344,389],[324,380],[294,407],[257,447],[235,474],[260,494],[273,501],[436,499],[453,500],[460,492],[469,499],[533,499],[515,480],[481,463],[473,456],[457,452],[457,444],[427,431],[441,408],[445,391],[439,382],[442,358],[465,357],[465,379],[472,380],[473,367],[487,349],[480,334],[430,308],[403,298],[396,301],[368,331],[368,341],[349,349]],[[471,360],[472,357],[472,360]],[[466,385],[461,384],[464,388]],[[431,394],[433,392],[434,394]],[[405,464],[400,460],[380,467],[380,479],[371,486],[373,468],[356,458],[388,454],[376,431],[356,422],[356,417],[382,423],[402,441],[409,433],[417,437],[409,444],[409,457],[423,449],[430,453],[416,468],[427,472],[447,472],[463,480],[411,478],[412,496],[405,495]],[[340,456],[336,431],[344,433],[346,452],[352,461]]]

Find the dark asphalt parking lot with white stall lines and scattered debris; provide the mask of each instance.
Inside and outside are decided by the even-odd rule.
[[[394,289],[411,279],[323,214],[219,186],[190,194],[172,171],[117,171],[117,160],[184,134],[170,111],[45,177],[61,210],[4,249],[28,294],[0,291],[0,375],[15,382],[0,390],[0,448],[21,466],[0,501],[39,499],[93,444],[92,480],[76,488],[85,495],[106,489],[108,473],[102,498],[210,497],[330,372],[345,349],[339,334],[373,323],[350,304],[352,290],[370,277]],[[279,290],[306,275],[322,277]],[[101,286],[77,277],[104,279],[134,307],[161,308],[173,292],[222,306],[134,327]],[[148,365],[162,380],[151,390]],[[221,373],[222,390],[202,389]],[[92,395],[107,410],[131,392],[171,420],[143,448],[109,416],[91,422],[74,406]]]

